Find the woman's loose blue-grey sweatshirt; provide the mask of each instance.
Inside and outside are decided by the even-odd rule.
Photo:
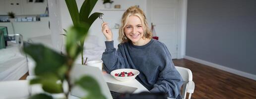
[[[136,69],[140,74],[135,79],[151,93],[164,92],[170,98],[181,98],[183,80],[165,44],[151,39],[144,46],[119,44],[118,50],[114,48],[114,41],[106,41],[105,45],[102,60],[107,73],[120,68]]]

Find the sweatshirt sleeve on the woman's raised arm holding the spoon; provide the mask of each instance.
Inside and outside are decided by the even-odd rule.
[[[105,42],[106,49],[102,54],[104,69],[107,73],[119,68],[125,68],[124,58],[120,50],[114,48],[114,41]]]

